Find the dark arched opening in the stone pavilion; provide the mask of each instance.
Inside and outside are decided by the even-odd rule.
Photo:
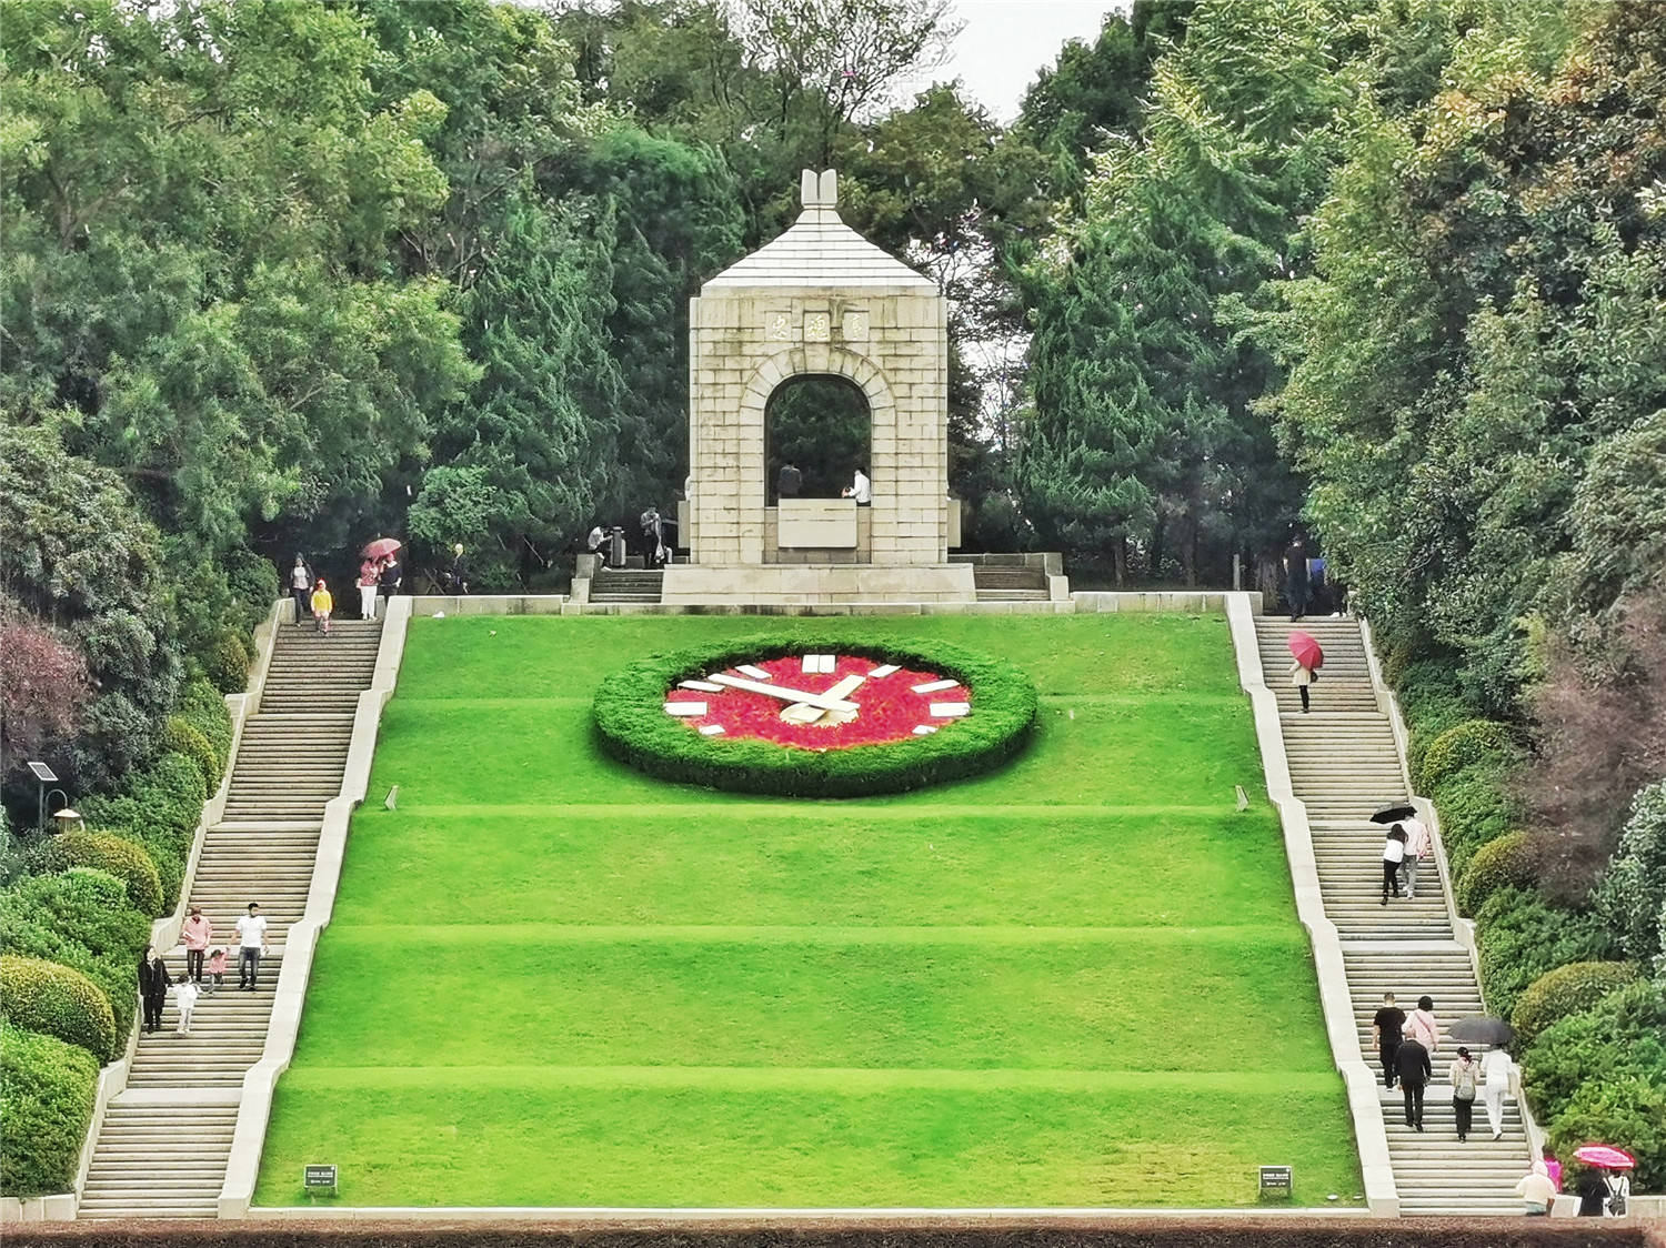
[[[801,373],[781,382],[763,408],[765,495],[780,503],[796,480],[798,498],[838,498],[856,477],[871,473],[873,413],[855,382],[831,373]],[[791,468],[783,482],[783,468]]]

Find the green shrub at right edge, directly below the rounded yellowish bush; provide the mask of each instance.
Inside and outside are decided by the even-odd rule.
[[[1633,980],[1558,1018],[1521,1053],[1521,1076],[1546,1121],[1586,1080],[1636,1073],[1666,1083],[1666,983]]]

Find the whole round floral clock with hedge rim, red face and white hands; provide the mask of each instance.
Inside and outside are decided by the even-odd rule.
[[[601,681],[603,750],[663,780],[860,796],[1013,758],[1036,718],[1018,668],[951,645],[761,636],[643,660]]]

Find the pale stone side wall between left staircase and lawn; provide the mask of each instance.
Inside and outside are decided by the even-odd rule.
[[[358,695],[358,705],[353,711],[353,731],[348,738],[342,790],[323,808],[323,826],[318,831],[307,908],[283,935],[283,966],[278,971],[277,995],[272,1001],[272,1020],[267,1025],[260,1060],[243,1075],[237,1128],[232,1135],[225,1183],[217,1203],[218,1216],[225,1220],[247,1218],[248,1206],[255,1198],[260,1158],[267,1146],[267,1125],[272,1120],[272,1098],[278,1076],[288,1070],[290,1060],[295,1056],[313,955],[318,951],[318,938],[335,911],[337,885],[342,880],[342,861],[347,855],[348,825],[353,810],[368,791],[370,761],[377,751],[382,711],[393,698],[413,607],[408,595],[395,595],[387,600],[382,638],[377,646],[377,666],[370,686]]]

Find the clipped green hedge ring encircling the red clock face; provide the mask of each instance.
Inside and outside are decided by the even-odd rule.
[[[665,713],[665,693],[680,680],[810,651],[943,671],[971,688],[971,715],[930,736],[823,753],[701,736]],[[1036,705],[1035,685],[1023,671],[961,646],[763,633],[630,663],[603,678],[591,711],[603,753],[660,780],[736,793],[850,798],[903,793],[996,768],[1023,751]]]

